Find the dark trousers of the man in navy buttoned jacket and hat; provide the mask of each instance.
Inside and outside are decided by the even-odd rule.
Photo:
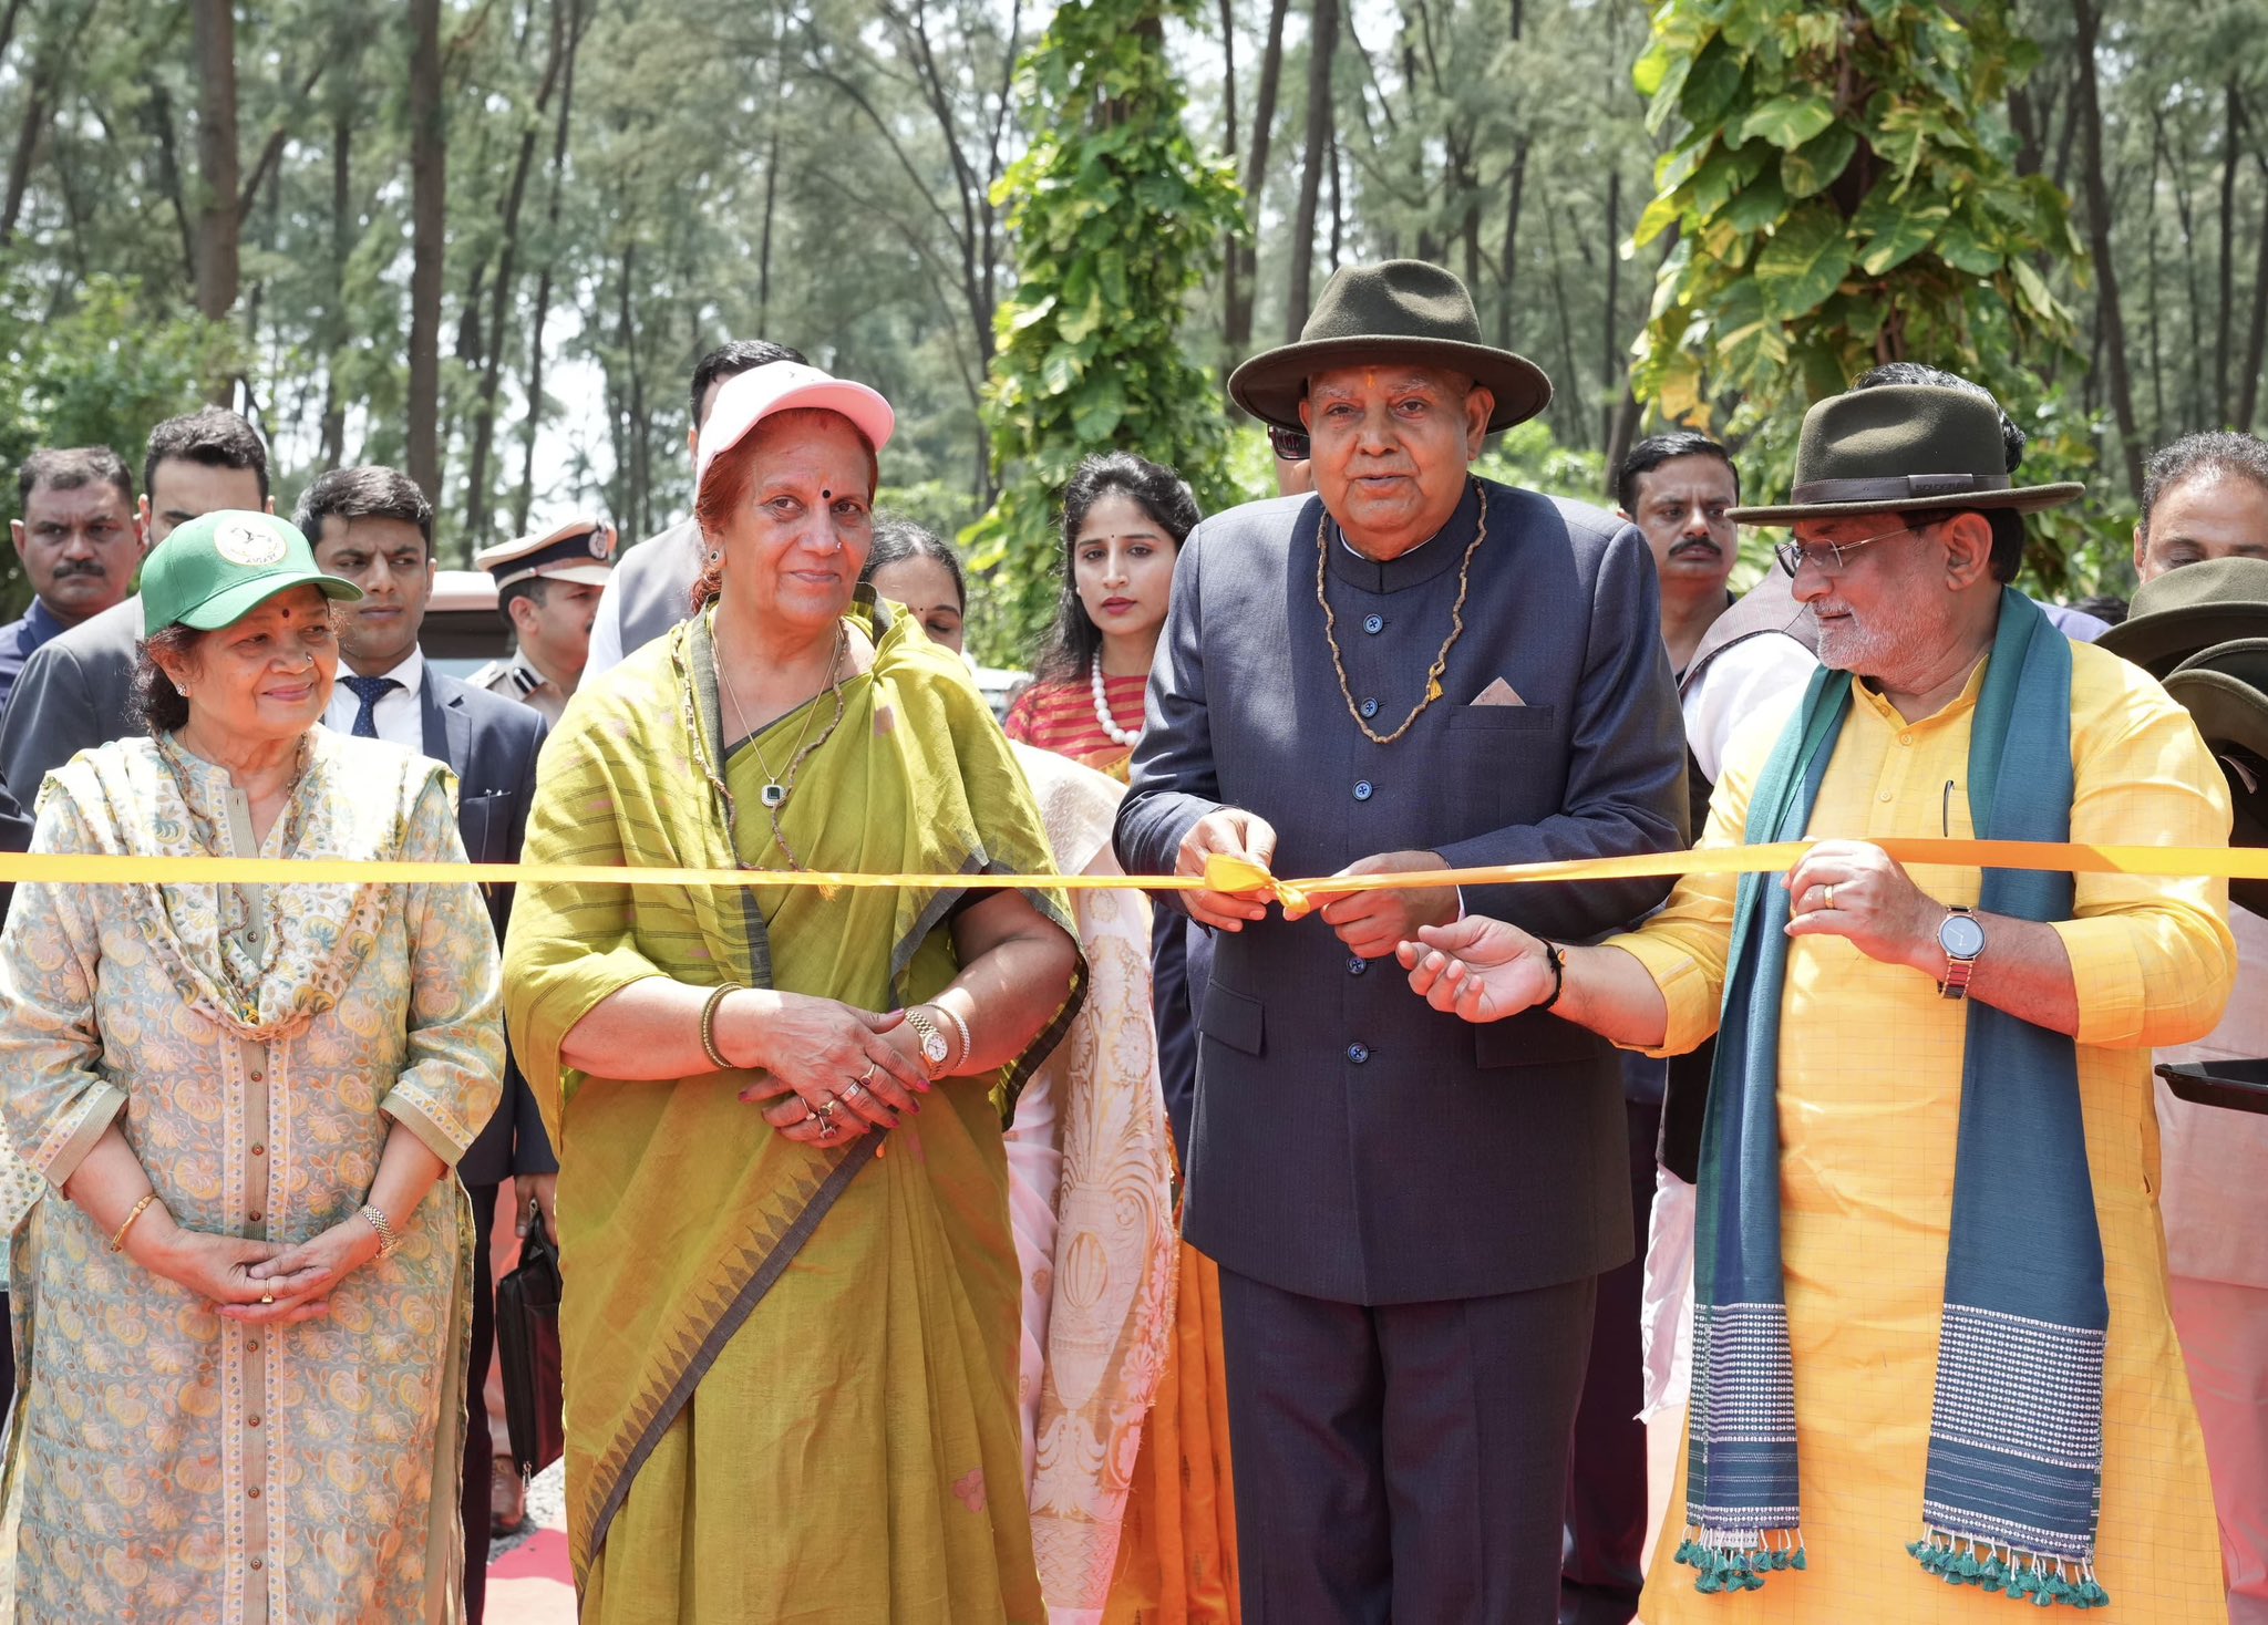
[[[1554,1625],[1597,1281],[1329,1303],[1220,1271],[1247,1625]]]

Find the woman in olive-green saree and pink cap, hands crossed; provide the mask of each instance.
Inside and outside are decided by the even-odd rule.
[[[701,437],[708,603],[581,691],[533,863],[1046,873],[966,666],[857,592],[889,406],[778,363]],[[524,886],[583,1620],[1043,1618],[1002,1099],[1075,1011],[1048,891]]]

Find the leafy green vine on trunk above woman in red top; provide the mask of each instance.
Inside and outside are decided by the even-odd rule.
[[[964,533],[998,607],[987,655],[1014,660],[1057,592],[1057,492],[1080,458],[1168,462],[1207,510],[1234,499],[1211,374],[1182,354],[1188,299],[1241,231],[1227,163],[1198,154],[1166,57],[1193,0],[1070,0],[1018,66],[1030,147],[993,188],[1016,240],[984,390],[1000,496]]]

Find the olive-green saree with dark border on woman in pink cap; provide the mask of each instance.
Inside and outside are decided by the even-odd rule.
[[[796,775],[816,870],[1048,873],[966,666],[862,592],[875,662]],[[578,694],[542,762],[531,863],[785,868],[762,789],[835,709],[723,737],[699,616]],[[726,798],[737,807],[737,843]],[[957,975],[959,888],[524,886],[506,947],[519,1061],[560,1151],[567,1534],[585,1620],[1043,1620],[1016,1412],[1005,1111],[1077,1006],[991,1079],[848,1147],[785,1140],[751,1074],[562,1067],[644,977],[889,1011]],[[1064,897],[1027,891],[1068,929]]]

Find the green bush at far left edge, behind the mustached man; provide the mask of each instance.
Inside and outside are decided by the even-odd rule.
[[[9,503],[16,467],[41,446],[111,446],[138,487],[150,431],[195,410],[204,378],[240,365],[227,326],[154,315],[129,281],[88,279],[54,320],[23,279],[0,279],[0,490]],[[11,621],[32,594],[14,551],[5,562],[0,621]]]

